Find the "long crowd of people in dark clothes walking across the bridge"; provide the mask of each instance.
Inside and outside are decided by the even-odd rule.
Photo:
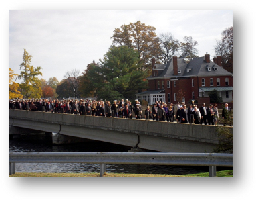
[[[113,103],[110,101],[100,101],[91,99],[9,99],[9,109],[20,109],[29,111],[45,111],[51,113],[68,113],[76,115],[92,115],[102,117],[122,117],[132,119],[152,119],[153,121],[167,121],[177,123],[195,123],[204,125],[217,125],[219,122],[219,111],[217,104],[209,104],[209,107],[205,106],[205,103],[201,107],[197,107],[195,104],[189,105],[186,108],[184,102],[177,102],[176,105],[170,103],[168,106],[166,103],[156,101],[152,108],[147,106],[143,111],[142,106],[138,99],[135,100],[134,105],[126,99],[116,101]],[[223,119],[227,119],[228,113],[231,108],[225,103],[225,108],[222,110]],[[225,125],[225,123],[224,123]],[[231,124],[229,124],[232,126]]]

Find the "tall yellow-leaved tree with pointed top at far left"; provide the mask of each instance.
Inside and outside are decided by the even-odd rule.
[[[41,67],[34,68],[31,66],[31,58],[32,56],[24,49],[23,62],[20,65],[22,71],[17,79],[23,79],[20,87],[25,98],[40,98],[42,95],[41,81],[37,76],[42,75]]]

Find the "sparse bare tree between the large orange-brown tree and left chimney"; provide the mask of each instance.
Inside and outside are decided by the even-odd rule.
[[[172,36],[171,33],[160,34],[160,52],[158,58],[167,64],[170,59],[176,54],[180,48],[179,41]]]

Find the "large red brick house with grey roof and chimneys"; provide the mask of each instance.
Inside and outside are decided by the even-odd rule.
[[[152,105],[156,101],[176,103],[198,100],[207,97],[213,89],[219,91],[223,102],[233,101],[233,74],[221,67],[221,56],[210,60],[210,55],[198,58],[177,58],[174,56],[167,64],[156,64],[152,58],[152,75],[148,79],[148,91],[136,94]]]

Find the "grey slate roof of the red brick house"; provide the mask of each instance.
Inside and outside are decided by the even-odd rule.
[[[215,64],[215,62],[210,61],[209,63],[206,63],[204,56],[197,58],[177,58],[177,63],[178,70],[180,70],[178,75],[174,75],[173,59],[171,59],[166,65],[158,64],[158,66],[156,66],[157,64],[155,64],[156,69],[161,70],[161,73],[158,73],[158,76],[151,75],[147,79],[233,75],[231,72],[228,72],[221,66]]]

